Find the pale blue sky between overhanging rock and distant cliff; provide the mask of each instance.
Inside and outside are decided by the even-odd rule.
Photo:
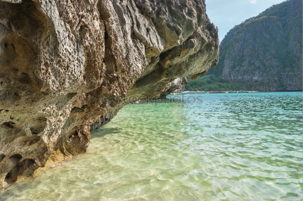
[[[235,25],[284,0],[205,0],[206,13],[219,29],[220,42]]]

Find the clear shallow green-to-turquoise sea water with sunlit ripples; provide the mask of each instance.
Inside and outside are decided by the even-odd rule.
[[[88,153],[0,200],[302,200],[302,92],[183,99],[125,105]]]

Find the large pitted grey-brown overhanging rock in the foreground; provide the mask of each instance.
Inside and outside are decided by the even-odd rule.
[[[0,187],[85,152],[123,105],[218,62],[204,0],[5,0],[0,33]]]

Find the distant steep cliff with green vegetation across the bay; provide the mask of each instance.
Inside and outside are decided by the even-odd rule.
[[[231,29],[211,74],[253,90],[302,90],[302,1],[273,5]]]

